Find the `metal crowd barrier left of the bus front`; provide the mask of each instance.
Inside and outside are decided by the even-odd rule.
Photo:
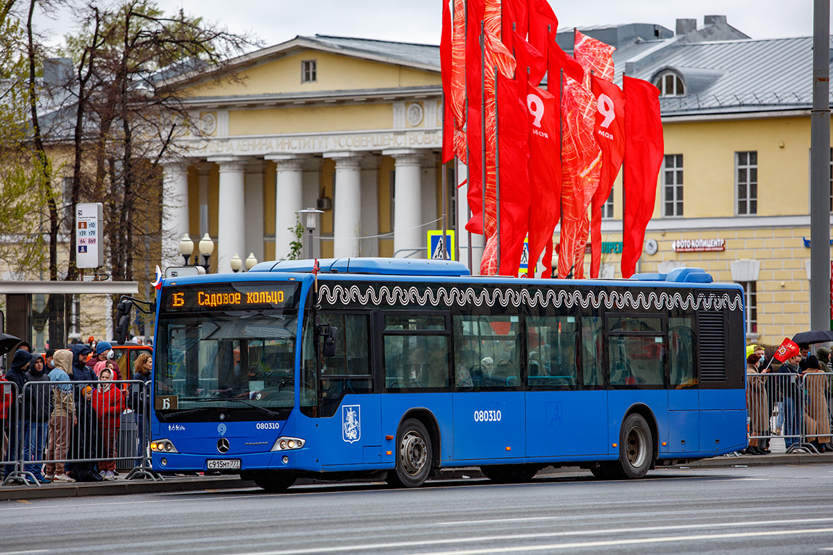
[[[39,477],[97,482],[128,469],[125,479],[161,479],[150,467],[150,397],[142,380],[27,382],[19,393],[17,384],[2,382],[0,389],[12,399],[0,485],[39,486]]]

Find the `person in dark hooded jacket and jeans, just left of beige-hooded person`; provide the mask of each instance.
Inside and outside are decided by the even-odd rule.
[[[52,388],[42,385],[42,382],[49,382],[46,373],[46,363],[42,354],[32,354],[32,364],[26,373],[29,386],[23,389],[23,460],[37,461],[43,457],[43,448],[46,446],[47,429],[49,427],[49,415],[52,413]],[[26,471],[32,473],[34,479],[40,483],[49,483],[52,480],[43,478],[41,465],[27,463]],[[27,476],[30,482],[32,478]]]

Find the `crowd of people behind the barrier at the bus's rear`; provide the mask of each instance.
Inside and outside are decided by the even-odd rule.
[[[798,353],[780,365],[776,359],[765,364],[761,346],[746,348],[750,439],[743,453],[771,453],[771,437],[781,435],[787,449],[806,447],[804,444],[818,453],[831,449],[831,349],[821,347],[811,354],[808,344],[799,344],[798,348]]]

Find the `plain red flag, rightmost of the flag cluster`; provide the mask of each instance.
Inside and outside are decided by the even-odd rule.
[[[656,178],[663,156],[660,91],[650,82],[625,76],[625,213],[622,215],[622,277],[636,270],[645,229],[654,212]]]

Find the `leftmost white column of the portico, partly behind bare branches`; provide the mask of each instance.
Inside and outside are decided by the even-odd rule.
[[[172,161],[162,166],[162,268],[182,265],[179,240],[188,233],[188,165]]]

